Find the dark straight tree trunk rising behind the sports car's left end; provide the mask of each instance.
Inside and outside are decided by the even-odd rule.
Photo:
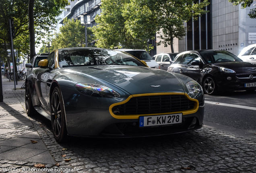
[[[33,58],[35,56],[34,3],[35,3],[35,0],[29,0],[29,45],[30,45],[30,58]]]

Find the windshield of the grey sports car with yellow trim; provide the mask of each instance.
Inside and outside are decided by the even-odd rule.
[[[145,66],[129,54],[105,49],[59,50],[59,66],[131,65]]]

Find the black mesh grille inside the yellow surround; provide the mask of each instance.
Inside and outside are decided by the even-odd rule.
[[[133,97],[127,103],[112,108],[115,115],[170,113],[193,109],[196,102],[184,95],[154,95]]]

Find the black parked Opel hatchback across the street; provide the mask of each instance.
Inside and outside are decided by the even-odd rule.
[[[182,52],[167,71],[193,78],[209,95],[224,90],[256,90],[256,64],[243,62],[225,50]]]

